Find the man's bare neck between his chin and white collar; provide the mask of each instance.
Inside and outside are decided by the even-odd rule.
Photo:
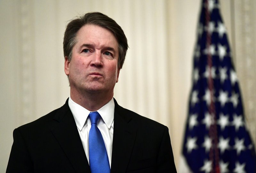
[[[114,93],[76,93],[70,90],[71,99],[89,111],[96,111],[107,104]]]

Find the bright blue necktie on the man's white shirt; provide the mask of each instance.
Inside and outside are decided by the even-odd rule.
[[[91,129],[89,132],[89,158],[90,169],[92,173],[110,173],[107,150],[97,127],[97,121],[100,118],[98,112],[89,114],[91,119]]]

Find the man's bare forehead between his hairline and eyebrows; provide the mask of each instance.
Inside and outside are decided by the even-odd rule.
[[[83,44],[90,42],[95,45],[108,44],[108,46],[118,46],[114,34],[110,30],[97,25],[87,24],[82,26],[76,34],[76,40]]]

